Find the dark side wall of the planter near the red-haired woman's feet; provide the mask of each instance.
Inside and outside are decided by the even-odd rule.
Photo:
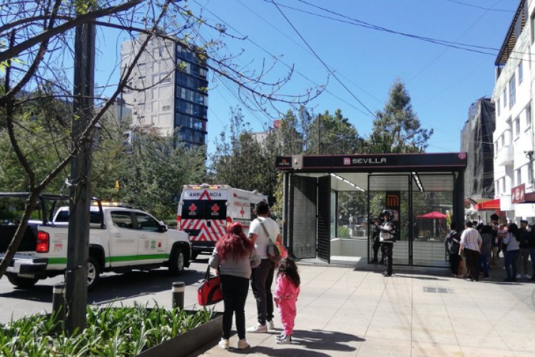
[[[139,353],[138,357],[188,356],[205,346],[206,343],[221,337],[221,333],[223,333],[223,313],[218,313],[212,321],[149,348]]]

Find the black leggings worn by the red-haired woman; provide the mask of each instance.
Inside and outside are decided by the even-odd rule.
[[[245,300],[249,293],[249,279],[239,276],[222,275],[221,291],[223,291],[223,338],[230,338],[233,326],[233,313],[236,313],[236,330],[238,337],[245,338]]]

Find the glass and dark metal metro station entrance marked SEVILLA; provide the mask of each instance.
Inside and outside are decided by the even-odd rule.
[[[464,153],[278,157],[285,244],[301,259],[370,263],[371,222],[389,208],[399,231],[394,264],[447,267],[444,236],[464,218],[466,164]],[[353,212],[340,212],[339,198],[348,194]]]

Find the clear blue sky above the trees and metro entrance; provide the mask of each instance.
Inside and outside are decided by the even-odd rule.
[[[210,24],[224,24],[227,34],[246,36],[223,38],[221,56],[239,54],[235,63],[250,71],[274,64],[266,80],[281,78],[293,67],[280,93],[303,94],[308,89],[315,93],[325,86],[306,106],[315,114],[341,109],[361,136],[370,134],[372,114],[384,108],[390,86],[400,79],[422,127],[434,130],[427,151],[457,152],[470,104],[491,97],[494,61],[519,0],[189,0],[188,4]],[[201,36],[211,39],[213,32]],[[97,64],[113,56],[113,49],[120,50],[116,39],[101,34],[97,41],[108,41],[106,50],[97,54]],[[97,81],[112,62],[101,64]],[[118,81],[118,73],[115,76]],[[277,111],[290,109],[288,104],[276,104],[277,111],[271,109],[269,115],[250,110],[230,81],[212,75],[209,80],[209,153],[215,148],[214,139],[228,128],[230,108],[242,108],[253,131],[265,130]]]

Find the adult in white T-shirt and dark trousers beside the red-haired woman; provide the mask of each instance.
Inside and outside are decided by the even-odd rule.
[[[253,268],[251,274],[251,288],[256,300],[258,321],[255,326],[247,329],[248,332],[265,333],[268,329],[275,329],[273,323],[273,295],[271,285],[275,273],[275,263],[267,256],[267,243],[270,238],[276,237],[276,241],[282,244],[280,228],[277,222],[270,218],[270,207],[267,202],[256,203],[255,218],[249,227],[249,238],[255,245],[260,256],[260,265]],[[264,229],[265,228],[265,229]]]

